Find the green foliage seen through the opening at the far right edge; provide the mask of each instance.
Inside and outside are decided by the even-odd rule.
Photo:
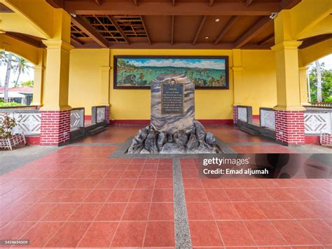
[[[309,72],[311,102],[317,102],[317,69]],[[323,102],[332,102],[332,69],[325,69],[321,64],[321,97]]]

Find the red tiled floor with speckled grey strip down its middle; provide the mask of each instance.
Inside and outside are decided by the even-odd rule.
[[[201,180],[198,159],[121,157],[137,128],[25,154],[0,177],[0,239],[34,248],[332,247],[331,180]]]

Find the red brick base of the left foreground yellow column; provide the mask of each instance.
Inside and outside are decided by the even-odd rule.
[[[59,145],[70,139],[70,110],[41,112],[41,145]]]

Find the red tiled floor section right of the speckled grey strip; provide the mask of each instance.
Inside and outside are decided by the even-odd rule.
[[[198,168],[181,159],[194,247],[332,245],[330,181],[200,179]]]

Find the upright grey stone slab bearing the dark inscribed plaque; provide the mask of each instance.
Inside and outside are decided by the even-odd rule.
[[[195,119],[195,85],[184,74],[161,74],[151,83],[151,125],[158,132],[189,132]]]

